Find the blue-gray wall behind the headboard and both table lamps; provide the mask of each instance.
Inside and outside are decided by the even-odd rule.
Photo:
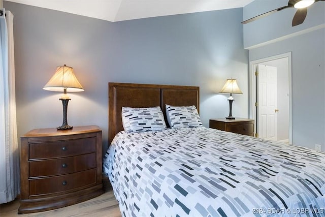
[[[68,123],[98,125],[108,134],[108,82],[200,86],[200,114],[228,116],[229,96],[218,94],[236,78],[233,115],[248,117],[248,51],[242,9],[109,22],[4,1],[14,14],[18,134],[62,123],[60,93],[42,87],[58,65],[74,67],[84,92],[70,94]]]

